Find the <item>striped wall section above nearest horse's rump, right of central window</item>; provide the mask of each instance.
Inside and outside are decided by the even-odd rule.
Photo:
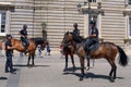
[[[103,0],[102,37],[105,41],[124,46],[126,17],[123,16],[124,0]]]

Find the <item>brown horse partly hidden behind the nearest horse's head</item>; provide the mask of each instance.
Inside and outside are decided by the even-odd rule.
[[[67,41],[63,37],[62,39],[62,51],[63,51],[63,55],[66,57],[66,66],[63,71],[68,70],[68,57],[70,55],[71,58],[71,62],[73,65],[73,71],[75,70],[75,64],[74,64],[74,45],[73,41]]]

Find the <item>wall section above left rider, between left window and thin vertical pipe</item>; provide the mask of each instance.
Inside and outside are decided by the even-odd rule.
[[[19,30],[22,29],[23,25],[28,26],[28,36],[33,36],[33,5],[32,0],[13,0],[15,10],[11,13],[11,34],[13,37],[19,38]]]

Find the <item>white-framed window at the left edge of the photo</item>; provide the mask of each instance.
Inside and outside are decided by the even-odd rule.
[[[0,12],[0,33],[5,33],[5,12]]]

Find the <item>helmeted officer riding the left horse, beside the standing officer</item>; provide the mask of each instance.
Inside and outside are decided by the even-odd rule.
[[[25,53],[28,52],[28,41],[27,41],[27,25],[23,25],[23,29],[20,30],[21,41],[23,42],[23,46],[25,48]]]

